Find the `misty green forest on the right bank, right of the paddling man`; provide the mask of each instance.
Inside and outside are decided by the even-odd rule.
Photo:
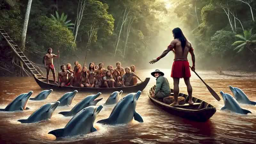
[[[255,15],[256,3],[252,0],[249,2]],[[255,39],[251,36],[256,33],[256,22],[253,21],[247,4],[236,0],[182,0],[175,3],[174,7],[180,20],[193,31],[194,39],[191,41],[199,66],[204,68],[234,66],[233,68],[239,70],[255,70],[256,49],[252,44],[254,42],[252,40]],[[196,12],[199,24],[195,16]],[[246,36],[248,38],[244,38]],[[233,44],[234,42],[236,43]],[[236,48],[236,44],[243,45]]]

